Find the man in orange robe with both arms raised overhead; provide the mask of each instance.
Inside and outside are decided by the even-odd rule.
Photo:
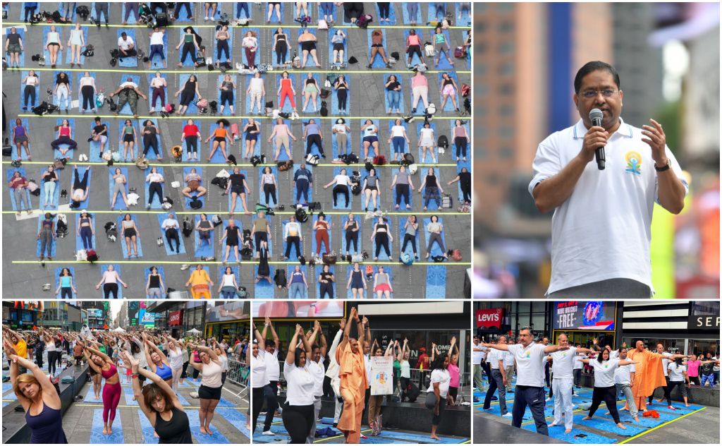
[[[359,338],[349,338],[351,321],[356,322]],[[344,400],[344,410],[339,419],[338,428],[344,433],[344,443],[358,444],[361,436],[361,419],[365,403],[366,367],[363,362],[364,330],[359,321],[355,308],[351,309],[349,321],[344,327],[344,338],[336,349],[336,361],[339,363],[339,378],[341,379],[341,398]]]

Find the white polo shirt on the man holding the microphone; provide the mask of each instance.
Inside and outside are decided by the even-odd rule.
[[[642,130],[621,124],[607,141],[606,169],[586,165],[570,197],[552,217],[552,279],[547,293],[572,286],[627,278],[652,288],[649,257],[657,172]],[[559,173],[575,158],[587,129],[580,119],[539,144],[534,157],[536,184]],[[689,192],[682,169],[666,147],[672,171]]]

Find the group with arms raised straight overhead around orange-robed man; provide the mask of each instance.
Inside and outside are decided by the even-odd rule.
[[[356,337],[352,335],[354,327]],[[425,406],[431,412],[427,420],[430,421],[428,432],[431,439],[440,439],[436,430],[444,409],[458,403],[461,396],[456,338],[451,340],[448,351],[440,351],[432,344],[431,356],[425,353],[423,346],[410,346],[406,339],[393,340],[383,348],[377,339],[371,340],[370,321],[360,316],[355,308],[351,309],[347,320],[339,322],[336,333],[323,333],[318,321],[313,322],[309,330],[304,330],[302,325],[293,328],[291,338],[283,342],[268,317],[261,330],[257,325],[253,328],[251,432],[258,430],[264,436],[276,435],[271,431],[271,424],[275,414],[280,413],[291,443],[313,442],[318,414],[325,400],[335,406],[332,427],[341,431],[344,442],[358,443],[361,438],[366,438],[361,426],[364,416],[370,434],[378,436],[383,429],[385,397],[388,403],[417,398],[418,393],[409,396],[414,393],[414,387],[418,390],[411,381],[411,370],[415,366],[429,373],[425,399]],[[282,343],[286,346],[284,350]],[[422,352],[417,364],[409,361],[412,347]],[[380,384],[372,375],[373,358],[382,356],[393,362],[390,394],[384,394],[376,387]],[[282,379],[286,383],[283,403],[279,401]],[[258,417],[264,406],[266,415],[259,423]]]

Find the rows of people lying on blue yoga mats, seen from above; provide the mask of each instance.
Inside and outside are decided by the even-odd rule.
[[[204,6],[204,14],[208,14],[203,16],[204,21],[218,22],[212,33],[208,25],[193,27],[193,12],[198,8],[191,4],[179,3],[175,9],[167,9],[165,4],[148,7],[144,3],[125,3],[120,8],[122,20],[116,16],[116,4],[94,5],[90,11],[91,17],[95,17],[94,24],[104,19],[106,23],[122,22],[128,26],[118,30],[117,45],[111,51],[111,63],[118,64],[116,72],[103,73],[102,77],[94,71],[101,68],[100,58],[89,56],[87,48],[96,37],[109,33],[110,28],[95,30],[86,25],[74,12],[75,4],[61,4],[61,22],[40,23],[27,29],[11,27],[6,33],[9,68],[18,68],[6,72],[6,81],[12,77],[20,85],[20,116],[10,122],[9,129],[15,161],[14,166],[7,168],[9,202],[19,217],[23,211],[38,214],[40,208],[37,233],[40,246],[35,250],[35,258],[40,262],[70,260],[69,252],[75,260],[85,260],[93,252],[100,254],[101,261],[121,255],[127,260],[146,261],[150,256],[144,255],[142,245],[157,241],[159,246],[167,244],[168,256],[191,254],[201,262],[224,263],[240,262],[243,257],[258,262],[258,272],[254,271],[253,277],[256,281],[271,282],[274,270],[268,261],[272,260],[273,249],[283,254],[278,256],[281,261],[303,256],[318,257],[317,263],[321,263],[323,254],[360,256],[365,252],[370,254],[368,261],[392,257],[406,260],[408,256],[409,262],[422,259],[443,262],[449,257],[448,252],[456,248],[449,246],[444,231],[446,221],[438,213],[458,210],[461,218],[467,218],[471,204],[471,127],[466,118],[470,111],[470,88],[456,72],[460,65],[464,67],[460,70],[466,68],[470,57],[470,30],[458,27],[469,25],[460,22],[469,14],[468,4],[437,3],[432,7],[436,18],[429,21],[417,5],[409,5],[402,14],[402,7],[379,2],[378,11],[386,14],[376,18],[380,25],[391,21],[388,14],[394,10],[399,20],[404,15],[414,24],[398,45],[387,38],[391,30],[374,28],[373,23],[367,30],[333,27],[336,23],[357,22],[365,14],[362,3],[321,3],[316,8],[308,2],[296,2],[295,18],[326,20],[331,26],[327,34],[310,26],[299,27],[295,22],[282,23],[287,17],[273,3],[267,5],[268,20],[279,27],[268,28],[267,33],[252,27],[253,22],[261,21],[258,17],[253,17],[251,27],[240,32],[218,19],[221,9],[229,19],[245,20],[251,12],[255,15],[251,5],[245,3],[238,3],[230,11],[225,4]],[[176,30],[161,25],[137,25],[144,14],[164,11],[178,23],[188,21],[188,26]],[[374,11],[367,12],[375,15]],[[431,13],[428,17],[432,17]],[[47,53],[45,64],[51,71],[28,66],[28,52],[36,51],[28,39],[31,33],[40,33],[41,28],[41,53]],[[359,116],[360,110],[376,116],[378,113],[364,108],[369,103],[370,90],[366,87],[366,91],[360,90],[360,85],[366,85],[360,83],[360,76],[345,72],[352,68],[352,59],[356,59],[352,57],[356,50],[351,51],[350,39],[354,43],[367,40],[370,69],[363,77],[378,85],[378,100],[384,103],[387,114],[383,119]],[[434,57],[422,51],[427,49],[425,40],[433,41]],[[100,52],[100,44],[95,46]],[[292,56],[296,46],[300,61]],[[454,51],[457,47],[462,48],[458,54]],[[64,51],[71,53],[71,57],[64,57]],[[266,56],[273,59],[274,71],[267,71]],[[175,73],[170,63],[174,58],[178,67],[195,67],[196,72]],[[223,67],[223,72],[206,72],[202,67],[209,65],[206,59],[212,60],[217,69]],[[393,69],[394,61],[399,62],[397,67],[404,64],[407,67]],[[299,72],[296,62],[302,68],[308,64],[310,70]],[[379,65],[380,62],[383,64]],[[243,73],[248,69],[251,74],[238,75],[236,64],[241,65]],[[327,64],[339,70],[311,71],[326,69]],[[375,72],[382,66],[392,69]],[[53,137],[47,138],[51,147],[43,150],[46,138],[38,128],[52,115],[36,115],[45,114],[40,111],[44,102],[40,92],[45,90],[49,101],[45,106],[56,106],[61,114]],[[63,116],[71,111],[87,114],[87,118]],[[239,113],[248,116],[234,119]],[[217,114],[217,119],[206,119],[209,114]],[[163,121],[164,116],[183,119]],[[412,121],[414,116],[416,121]],[[443,119],[434,119],[435,116]],[[86,121],[90,121],[87,129]],[[24,161],[32,160],[48,163],[36,175],[30,164],[22,166]],[[175,166],[174,160],[184,166],[180,178],[167,167]],[[280,166],[288,161],[295,166],[284,173]],[[203,162],[217,166],[196,165]],[[238,168],[225,166],[237,162]],[[108,163],[108,167],[103,163]],[[136,171],[133,163],[144,170]],[[250,164],[253,168],[244,167]],[[180,187],[173,186],[178,182]],[[218,197],[213,193],[214,184],[223,186],[217,191],[222,193],[219,211],[215,210]],[[109,189],[110,201],[103,205],[104,198],[100,197],[105,197],[105,188]],[[226,197],[230,199],[227,206]],[[277,221],[258,212],[268,208],[283,212],[283,208],[297,207],[308,211],[319,201],[334,210],[348,211],[348,218],[343,218],[342,223],[332,222],[329,215],[321,213],[318,221],[303,225],[295,215]],[[69,213],[65,205],[70,205]],[[171,212],[158,224],[147,223],[136,213],[143,207],[150,213]],[[107,209],[125,210],[126,215],[115,222],[100,221],[97,211]],[[187,221],[190,228],[186,228],[186,218],[178,214],[181,212],[196,214]],[[211,222],[212,212],[228,216],[221,228]],[[388,215],[389,212],[393,215]],[[82,217],[74,218],[76,213]],[[113,246],[104,241],[97,246],[95,236],[102,234],[103,228],[110,240],[109,225],[116,226],[110,231],[118,231],[121,246],[116,252],[106,252]],[[66,227],[69,233],[75,233],[75,246],[72,236],[70,241],[58,236]],[[251,228],[250,242],[245,237],[245,228]],[[331,237],[331,232],[339,228],[342,236]],[[271,234],[279,231],[283,232],[283,239],[271,241]],[[370,247],[364,246],[362,233],[370,236]],[[190,239],[183,241],[186,238]],[[305,244],[304,239],[311,243]],[[193,249],[184,253],[189,242]],[[277,246],[271,246],[272,242]],[[252,250],[251,259],[244,248]],[[149,262],[145,265],[144,276],[148,280],[143,290],[136,283],[123,281],[119,268],[108,265],[100,271],[100,282],[95,288],[103,288],[105,298],[119,297],[125,288],[135,294],[145,291],[146,297],[163,297],[168,288],[189,288],[193,297],[218,294],[230,298],[239,288],[249,285],[242,283],[238,273],[225,280],[226,265],[217,267],[219,275],[204,266],[205,273],[190,266],[191,278],[186,283],[168,283],[162,271],[153,272]],[[293,282],[294,296],[307,297],[309,283],[320,283],[323,296],[333,298],[341,294],[336,289],[336,280],[339,286],[347,280],[337,279],[331,270]],[[55,275],[56,281],[61,282],[58,297],[91,296],[92,289],[75,283],[71,268],[58,269]],[[366,280],[360,286],[349,273],[347,289],[354,288],[355,295],[362,289],[362,297],[365,291],[391,297],[389,271],[374,267],[372,275],[373,286],[367,286]],[[222,283],[217,283],[217,277]],[[290,284],[287,290],[291,291]]]

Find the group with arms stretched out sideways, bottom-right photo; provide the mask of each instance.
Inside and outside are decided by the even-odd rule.
[[[670,411],[677,410],[671,400],[671,392],[679,388],[679,398],[688,407],[687,389],[693,384],[715,386],[715,371],[719,359],[714,353],[689,355],[669,353],[662,343],[654,351],[638,340],[634,347],[622,343],[617,349],[600,346],[594,338],[590,348],[572,345],[565,333],[557,335],[557,344],[549,338],[534,340],[531,327],[519,330],[516,340],[505,335],[494,342],[482,342],[474,337],[472,366],[474,386],[484,389],[484,374],[489,385],[482,408],[491,408],[492,400],[498,400],[501,416],[510,417],[512,425],[521,427],[523,413],[529,407],[536,432],[548,435],[548,426],[561,426],[565,433],[573,429],[573,395],[583,388],[583,372],[593,376],[591,406],[583,420],[591,420],[599,405],[606,404],[606,415],[612,416],[619,429],[627,429],[619,416],[617,400],[625,399],[622,411],[639,421],[641,413],[653,403],[665,402]],[[718,372],[717,372],[718,373]],[[700,379],[701,377],[701,379]],[[514,381],[514,387],[512,382]],[[549,388],[547,395],[545,387]],[[654,399],[655,390],[662,388],[662,396]],[[508,411],[506,393],[514,390],[513,408]],[[498,396],[495,396],[497,393]],[[554,419],[547,424],[545,404],[554,397]]]

